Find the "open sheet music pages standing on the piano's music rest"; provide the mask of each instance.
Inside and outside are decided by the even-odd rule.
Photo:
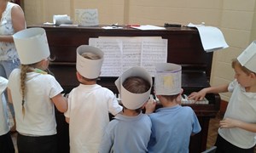
[[[136,65],[154,77],[154,65],[167,61],[167,40],[161,37],[90,38],[89,45],[104,52],[101,77],[119,77]]]

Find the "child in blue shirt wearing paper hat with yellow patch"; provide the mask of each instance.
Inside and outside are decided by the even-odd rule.
[[[195,112],[189,106],[181,106],[180,65],[171,63],[156,65],[154,92],[162,108],[149,114],[152,134],[148,152],[189,152],[190,136],[199,133],[201,126]],[[146,112],[152,112],[146,107]]]

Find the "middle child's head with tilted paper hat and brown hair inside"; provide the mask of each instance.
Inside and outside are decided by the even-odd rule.
[[[122,104],[130,110],[141,108],[148,100],[152,77],[144,68],[136,66],[125,71],[116,81]]]

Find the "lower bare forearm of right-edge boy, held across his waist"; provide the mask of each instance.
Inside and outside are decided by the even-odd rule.
[[[242,128],[244,130],[256,133],[256,123],[242,122],[240,120],[235,120],[232,118],[225,118],[219,122],[219,127],[221,128]]]

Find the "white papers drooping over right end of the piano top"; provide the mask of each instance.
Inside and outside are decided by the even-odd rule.
[[[195,27],[199,31],[201,43],[206,52],[212,52],[222,48],[228,48],[223,33],[213,26],[194,25],[189,23],[189,27]]]

